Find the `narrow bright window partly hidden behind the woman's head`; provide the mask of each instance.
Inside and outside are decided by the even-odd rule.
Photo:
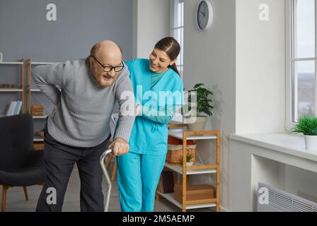
[[[171,36],[180,44],[180,54],[176,66],[183,78],[184,72],[184,2],[182,0],[171,0]]]

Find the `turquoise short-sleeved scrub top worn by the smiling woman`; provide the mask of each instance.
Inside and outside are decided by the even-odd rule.
[[[183,105],[183,81],[173,69],[162,73],[159,81],[151,87],[151,76],[153,77],[154,72],[149,69],[149,59],[134,59],[126,64],[135,100],[137,105],[143,106],[144,113],[149,114],[152,110],[162,111],[168,105]],[[167,152],[168,125],[150,119],[151,117],[142,115],[136,117],[129,138],[129,151],[164,155]]]

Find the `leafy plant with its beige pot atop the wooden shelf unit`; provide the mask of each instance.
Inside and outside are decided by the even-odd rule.
[[[192,93],[195,92],[195,93]],[[188,129],[191,131],[202,131],[207,122],[207,116],[212,116],[212,109],[214,108],[211,103],[211,95],[214,93],[207,88],[204,88],[204,83],[197,83],[192,90],[188,90],[188,105],[185,105],[182,109],[182,114],[185,117],[197,117],[194,124],[189,124]],[[196,102],[194,102],[193,96],[196,96]],[[193,101],[192,101],[193,99]],[[195,107],[195,109],[192,109]],[[203,115],[204,114],[204,115]]]

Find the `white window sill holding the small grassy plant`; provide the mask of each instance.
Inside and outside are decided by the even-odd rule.
[[[250,145],[276,150],[317,162],[317,151],[306,150],[304,136],[289,133],[231,134],[230,139]]]

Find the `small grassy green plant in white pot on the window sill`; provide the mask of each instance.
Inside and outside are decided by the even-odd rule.
[[[292,133],[304,133],[306,150],[317,150],[317,117],[302,116],[292,128]]]

